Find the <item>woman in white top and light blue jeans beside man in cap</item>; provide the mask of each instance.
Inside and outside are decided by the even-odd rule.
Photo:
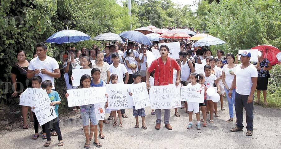
[[[235,106],[235,89],[233,89],[232,92],[232,96],[229,97],[228,93],[229,93],[229,89],[231,87],[232,81],[234,79],[234,72],[236,70],[236,64],[234,64],[235,61],[235,57],[233,54],[228,54],[226,56],[226,60],[227,60],[227,65],[224,65],[224,67],[222,68],[222,82],[224,84],[224,90],[226,93],[226,97],[228,100],[228,107],[229,107],[229,120],[227,120],[227,122],[232,122],[233,121],[233,105]]]

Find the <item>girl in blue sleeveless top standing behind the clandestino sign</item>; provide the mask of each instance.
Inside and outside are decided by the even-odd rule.
[[[100,70],[100,69],[98,69],[98,68],[93,68],[92,71],[91,71],[91,74],[92,74],[92,80],[91,80],[91,84],[90,84],[91,87],[102,87],[102,86],[106,86],[106,83],[105,83],[102,79],[100,79],[100,77],[101,77],[101,70]],[[105,94],[105,96],[107,96],[107,94]],[[107,106],[108,106],[108,102],[105,103],[104,108],[107,108]],[[102,112],[101,112],[101,113],[102,113]],[[105,120],[99,120],[99,127],[100,127],[100,134],[99,134],[99,137],[100,137],[101,139],[104,139],[104,138],[105,138],[104,134],[102,133],[103,122],[104,122],[104,121],[105,121]],[[104,123],[109,124],[108,121],[107,121],[107,122],[104,122]]]

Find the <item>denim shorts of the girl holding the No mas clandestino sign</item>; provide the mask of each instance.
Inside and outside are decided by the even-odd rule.
[[[80,106],[80,111],[83,126],[89,125],[89,119],[93,125],[97,125],[97,115],[94,104]]]

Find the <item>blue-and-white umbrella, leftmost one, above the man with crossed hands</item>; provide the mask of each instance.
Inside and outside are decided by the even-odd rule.
[[[61,30],[51,37],[49,37],[47,43],[76,43],[79,41],[89,40],[91,37],[83,32],[73,29]]]

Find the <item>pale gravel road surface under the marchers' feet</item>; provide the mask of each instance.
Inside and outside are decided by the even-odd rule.
[[[150,114],[150,107],[145,110],[147,116],[145,122],[146,130],[134,128],[135,118],[132,116],[132,109],[126,110],[129,116],[127,119],[123,118],[123,127],[112,126],[104,124],[105,139],[100,139],[102,148],[280,148],[281,146],[281,110],[280,108],[265,108],[262,106],[254,106],[254,132],[252,137],[245,136],[246,133],[246,112],[244,111],[245,125],[243,132],[230,132],[229,129],[235,127],[235,122],[227,123],[229,119],[227,101],[224,100],[225,111],[219,111],[220,118],[214,118],[213,124],[208,124],[207,127],[201,130],[196,130],[196,117],[193,114],[193,129],[188,130],[188,114],[184,109],[179,109],[180,117],[174,116],[174,109],[171,110],[170,124],[173,130],[168,130],[164,126],[162,120],[161,129],[156,130],[155,120],[156,116]],[[220,105],[218,104],[218,107]],[[81,130],[82,121],[79,119],[79,113],[68,113],[68,116],[61,116],[60,128],[64,141],[63,147],[57,147],[57,137],[52,137],[50,148],[83,148],[85,143],[84,132]],[[109,115],[107,114],[106,117]],[[162,111],[162,118],[164,119],[164,112]],[[207,118],[208,120],[208,118]],[[235,121],[235,118],[234,118]],[[32,123],[29,123],[32,126]],[[40,130],[40,129],[39,129]],[[0,148],[45,148],[42,136],[37,140],[32,140],[34,129],[27,130],[16,128],[13,131],[0,132]],[[91,148],[97,148],[90,143]]]

